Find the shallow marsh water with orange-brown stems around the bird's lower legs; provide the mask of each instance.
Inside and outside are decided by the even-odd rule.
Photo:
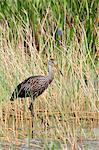
[[[28,108],[24,111],[18,107],[15,111],[11,109],[11,112],[7,107],[6,109],[1,111],[0,150],[71,150],[72,140],[76,141],[77,150],[99,149],[99,114],[95,115],[94,113],[93,115],[89,113],[87,116],[86,112],[81,112],[83,114],[81,116],[80,114],[77,115],[79,112],[70,112],[62,120],[59,113],[55,114],[57,116],[55,117],[53,115],[50,116],[47,111],[42,111],[35,114],[35,118],[32,120]],[[32,121],[34,122],[33,127]],[[70,127],[69,131],[67,125]],[[69,141],[71,142],[69,144],[66,139],[68,139],[68,133],[72,133],[72,128],[74,129],[75,137],[72,136],[72,139],[69,137]],[[66,134],[62,133],[64,136],[62,139],[66,141],[66,144],[63,143],[63,140],[60,140],[60,135],[59,140],[54,140],[58,139],[56,131],[60,131],[61,129],[66,130]],[[31,138],[32,130],[34,131],[33,138]]]

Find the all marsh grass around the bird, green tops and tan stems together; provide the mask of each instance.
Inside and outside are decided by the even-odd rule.
[[[7,141],[30,139],[32,121],[34,137],[65,144],[67,140],[72,148],[81,137],[95,138],[91,129],[99,125],[97,1],[76,2],[0,4],[0,135]],[[55,70],[53,83],[35,100],[32,120],[30,99],[11,105],[10,96],[27,77],[47,74],[50,57],[64,76]],[[90,128],[89,135],[83,128]]]

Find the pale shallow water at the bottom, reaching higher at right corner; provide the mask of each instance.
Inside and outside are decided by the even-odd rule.
[[[88,134],[88,129],[83,129],[86,134]],[[99,128],[93,128],[93,133],[95,139],[83,139],[76,143],[77,150],[99,150]],[[62,144],[60,141],[48,139],[46,142],[44,139],[33,138],[33,139],[23,139],[19,140],[20,144],[16,144],[13,141],[6,142],[4,140],[0,141],[0,150],[71,150],[71,145]]]

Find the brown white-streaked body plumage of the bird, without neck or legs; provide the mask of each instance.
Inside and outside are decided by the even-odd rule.
[[[52,80],[44,76],[31,76],[16,87],[10,100],[14,101],[16,98],[25,97],[35,99],[35,97],[38,97],[47,89]]]

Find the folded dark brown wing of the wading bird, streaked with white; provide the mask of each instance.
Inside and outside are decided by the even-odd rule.
[[[17,97],[35,97],[38,96],[38,92],[43,83],[43,76],[31,76],[21,82],[12,93],[11,99],[14,100]],[[43,88],[42,88],[43,89]],[[40,95],[40,94],[39,94]]]

